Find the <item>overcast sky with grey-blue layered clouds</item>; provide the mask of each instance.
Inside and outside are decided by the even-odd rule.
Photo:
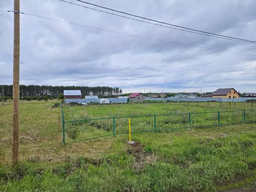
[[[104,10],[76,0],[67,1]],[[256,41],[254,0],[86,1],[174,25]],[[13,0],[0,1],[0,10],[12,9]],[[256,44],[142,23],[58,0],[21,0],[20,12],[256,55]],[[0,11],[0,84],[12,84],[12,70],[13,13]],[[256,56],[21,14],[20,84],[115,86],[123,92],[205,92],[230,87],[255,92]]]

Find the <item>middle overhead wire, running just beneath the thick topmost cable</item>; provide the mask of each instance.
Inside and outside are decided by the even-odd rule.
[[[66,2],[66,3],[70,3],[70,4],[72,4],[72,5],[78,5],[78,6],[80,6],[80,7],[85,7],[85,8],[92,9],[92,10],[96,10],[96,11],[103,12],[103,13],[108,13],[108,14],[111,14],[111,15],[116,15],[116,16],[124,17],[124,18],[127,18],[127,19],[132,19],[132,20],[140,21],[140,22],[143,22],[143,23],[149,23],[149,24],[153,24],[153,25],[158,25],[158,26],[162,26],[162,27],[167,27],[167,28],[170,28],[170,29],[177,29],[177,30],[180,30],[180,31],[187,31],[187,32],[195,33],[195,34],[199,34],[199,35],[206,35],[206,36],[217,37],[217,38],[221,38],[221,39],[228,39],[228,40],[240,41],[240,42],[244,42],[244,43],[256,44],[256,43],[253,43],[253,42],[241,41],[241,40],[236,40],[236,39],[229,39],[229,38],[225,38],[225,37],[218,37],[218,36],[213,36],[213,35],[207,35],[207,34],[203,34],[203,33],[197,33],[197,32],[193,32],[193,31],[188,31],[188,30],[184,30],[184,29],[178,29],[178,28],[174,28],[174,27],[168,27],[168,26],[159,25],[159,24],[156,24],[156,23],[151,23],[151,22],[146,22],[146,21],[143,21],[143,20],[134,19],[134,18],[131,18],[131,17],[125,17],[125,16],[122,16],[122,15],[118,15],[118,14],[114,14],[114,13],[109,13],[109,12],[106,12],[106,11],[94,9],[94,8],[91,8],[91,7],[86,7],[86,6],[83,6],[83,5],[79,5],[79,4],[76,4],[76,3],[71,3],[71,2],[68,2],[68,1],[64,1],[64,0],[59,0],[59,1]]]

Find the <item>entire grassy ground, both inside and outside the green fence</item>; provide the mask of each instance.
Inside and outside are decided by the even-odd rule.
[[[54,104],[20,105],[20,162],[16,166],[10,165],[12,105],[0,106],[0,191],[256,190],[255,123],[134,133],[132,140],[136,144],[132,146],[127,144],[127,134],[63,144],[61,110],[60,107],[51,109]],[[223,110],[152,103],[64,106],[64,115],[69,121]],[[213,114],[191,116],[191,122],[194,125],[216,122]],[[242,112],[220,114],[224,123],[243,121]],[[157,127],[187,124],[186,115],[176,116],[156,119]],[[153,121],[152,116],[148,118],[137,118],[137,121],[131,118],[132,128],[151,129],[154,117]],[[255,111],[248,111],[246,118],[255,121]],[[127,118],[124,119],[116,120],[116,131],[127,130]],[[72,141],[96,134],[94,131],[111,132],[103,129],[103,125],[102,122],[70,123],[66,126],[66,137]],[[75,127],[77,130],[70,134],[68,129]]]

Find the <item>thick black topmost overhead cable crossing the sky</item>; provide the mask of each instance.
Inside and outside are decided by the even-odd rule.
[[[171,26],[174,26],[174,27],[180,27],[180,28],[183,28],[183,29],[189,29],[189,30],[193,30],[193,31],[201,32],[201,33],[207,33],[207,34],[211,34],[211,35],[217,35],[217,36],[222,36],[222,37],[227,37],[227,38],[238,39],[238,40],[242,40],[242,41],[249,41],[249,42],[254,42],[254,43],[256,43],[256,41],[250,41],[250,40],[246,40],[246,39],[239,39],[239,38],[235,38],[235,37],[229,37],[229,36],[225,36],[225,35],[218,35],[218,34],[209,33],[209,32],[205,32],[205,31],[200,31],[200,30],[196,30],[196,29],[190,29],[190,28],[182,27],[182,26],[178,26],[178,25],[172,25],[172,24],[160,22],[160,21],[157,21],[157,20],[154,20],[154,19],[148,19],[148,18],[145,18],[145,17],[140,17],[140,16],[137,16],[137,15],[133,15],[133,14],[125,13],[125,12],[122,12],[122,11],[110,9],[110,8],[107,8],[107,7],[102,7],[102,6],[95,5],[95,4],[93,4],[93,3],[88,3],[88,2],[85,2],[85,1],[81,1],[81,0],[76,0],[76,1],[79,1],[79,2],[82,2],[82,3],[86,3],[86,4],[89,4],[89,5],[93,5],[93,6],[97,6],[97,7],[101,7],[101,8],[103,8],[103,9],[112,10],[112,11],[115,11],[115,12],[118,12],[118,13],[123,13],[123,14],[130,15],[130,16],[133,16],[133,17],[138,17],[138,18],[142,18],[142,19],[154,21],[154,22],[157,22],[157,23],[162,23],[162,24],[166,24],[166,25],[171,25]]]

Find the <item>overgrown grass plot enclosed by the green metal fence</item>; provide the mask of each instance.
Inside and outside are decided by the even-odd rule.
[[[220,111],[220,124],[243,123],[244,112],[247,122],[256,119],[256,110],[197,107],[177,103],[63,106],[65,121],[93,119],[65,123],[68,142],[113,134],[113,117],[115,117],[115,134],[124,134],[129,129],[129,118],[131,119],[132,132],[153,131],[155,120],[156,130],[170,130],[190,126],[210,127],[219,124],[218,111]],[[188,113],[191,113],[190,123]],[[212,129],[212,127],[209,129]]]

